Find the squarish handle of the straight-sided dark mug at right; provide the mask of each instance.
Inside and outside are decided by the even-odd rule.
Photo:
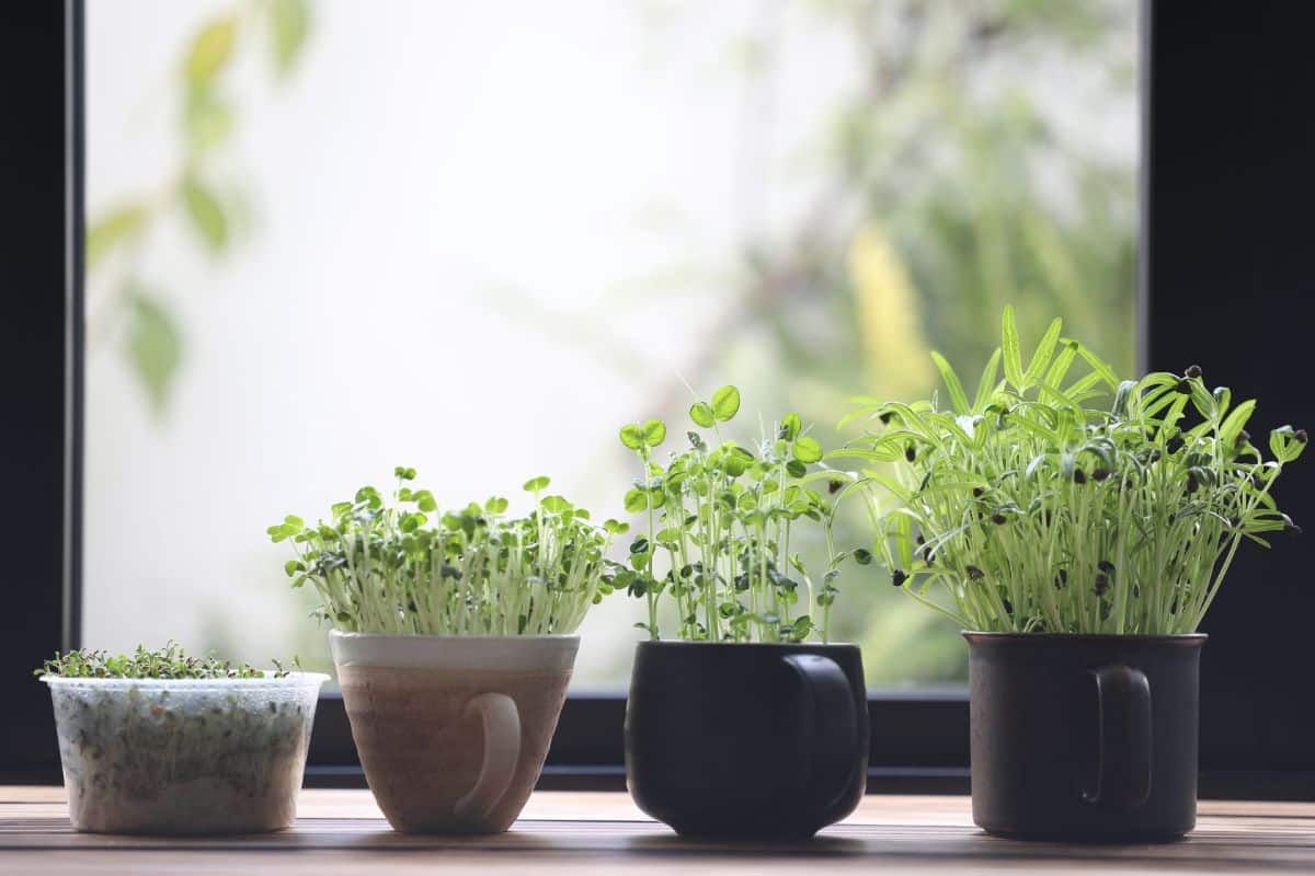
[[[1151,682],[1131,666],[1102,666],[1095,679],[1098,742],[1090,804],[1135,809],[1151,796]]]

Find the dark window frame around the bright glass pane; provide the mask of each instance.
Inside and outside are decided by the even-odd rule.
[[[1315,426],[1315,393],[1302,381],[1303,320],[1278,318],[1264,332],[1257,317],[1245,322],[1260,305],[1277,311],[1315,299],[1301,236],[1315,202],[1315,169],[1303,162],[1315,154],[1302,88],[1315,77],[1302,45],[1310,17],[1283,0],[1245,11],[1216,0],[1143,4],[1139,364],[1177,370],[1198,361],[1239,394],[1262,394],[1266,428]],[[1228,64],[1219,63],[1224,49]],[[26,131],[0,144],[0,190],[16,194],[0,219],[13,282],[0,361],[17,376],[0,435],[11,496],[0,514],[11,538],[21,537],[21,550],[11,548],[9,611],[0,615],[0,695],[9,704],[0,780],[8,781],[58,781],[49,699],[29,667],[80,644],[82,80],[82,0],[0,5],[0,106],[11,130]],[[1224,110],[1245,123],[1222,125]],[[1282,495],[1294,516],[1315,521],[1315,461],[1293,469]],[[1303,574],[1312,559],[1301,541],[1247,553],[1207,619],[1202,796],[1315,795],[1315,753],[1302,735],[1315,705],[1274,670],[1276,658],[1298,666],[1297,645],[1308,634],[1302,621],[1315,616]],[[1256,579],[1281,591],[1279,611],[1247,592]],[[963,688],[877,691],[869,708],[869,791],[967,791]],[[540,784],[622,788],[623,716],[622,691],[573,693]],[[321,700],[308,783],[363,784],[335,693]]]

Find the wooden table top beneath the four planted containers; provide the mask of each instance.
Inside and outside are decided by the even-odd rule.
[[[679,839],[623,793],[537,792],[497,837],[389,830],[368,791],[301,793],[297,823],[258,837],[76,834],[62,788],[0,785],[0,873],[981,873],[1315,872],[1315,804],[1203,801],[1195,833],[1139,846],[1024,843],[973,826],[967,797],[868,796],[809,843]]]

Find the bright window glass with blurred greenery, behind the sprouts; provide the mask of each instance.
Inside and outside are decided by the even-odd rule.
[[[1009,301],[1131,370],[1132,0],[245,8],[87,11],[87,641],[326,667],[270,523],[398,464],[621,515],[617,429],[682,440],[686,381],[835,445]],[[847,571],[835,637],[961,683],[888,580]],[[625,687],[642,615],[596,609],[576,690]]]

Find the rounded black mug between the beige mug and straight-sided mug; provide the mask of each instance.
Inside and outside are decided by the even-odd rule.
[[[811,837],[853,812],[867,772],[856,646],[639,644],[626,784],[679,834]]]

